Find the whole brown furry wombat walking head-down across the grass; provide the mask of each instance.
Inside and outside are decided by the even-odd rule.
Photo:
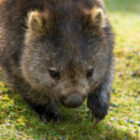
[[[96,120],[109,107],[113,32],[102,0],[1,0],[0,66],[44,120],[87,98]]]

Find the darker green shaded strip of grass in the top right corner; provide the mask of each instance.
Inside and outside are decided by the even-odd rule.
[[[104,0],[106,9],[111,12],[140,13],[140,0]]]

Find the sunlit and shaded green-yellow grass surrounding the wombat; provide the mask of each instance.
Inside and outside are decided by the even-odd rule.
[[[0,140],[140,140],[140,1],[105,0],[115,32],[111,106],[97,128],[86,105],[64,110],[59,124],[39,121],[0,82]]]

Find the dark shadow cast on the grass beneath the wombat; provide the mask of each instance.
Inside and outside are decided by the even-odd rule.
[[[14,124],[16,133],[21,134],[21,136],[26,135],[30,139],[137,140],[135,136],[131,135],[131,132],[115,128],[111,123],[105,123],[104,121],[100,122],[95,128],[93,123],[90,122],[86,105],[79,109],[64,109],[62,113],[64,118],[60,123],[49,122],[44,124],[37,119],[18,95],[11,94],[10,98],[14,105],[5,109],[5,112],[8,112],[8,116],[10,116],[10,123]]]

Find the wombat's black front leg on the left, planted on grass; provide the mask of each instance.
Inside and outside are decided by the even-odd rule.
[[[35,114],[38,115],[38,117],[43,120],[45,123],[47,121],[53,120],[53,121],[59,121],[60,115],[58,114],[55,106],[52,102],[49,102],[46,105],[37,105],[35,103],[32,103],[31,101],[28,101],[26,99],[27,104],[33,109]]]

